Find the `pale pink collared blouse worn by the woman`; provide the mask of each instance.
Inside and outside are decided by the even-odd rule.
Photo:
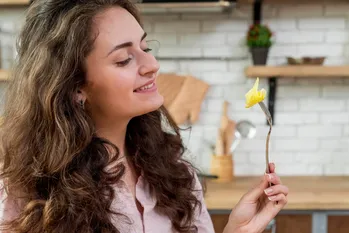
[[[198,227],[199,233],[214,233],[213,224],[207,211],[203,199],[202,187],[198,178],[196,180],[197,197],[201,201],[202,210],[196,210],[194,224]],[[126,183],[119,182],[116,186],[116,198],[112,203],[112,208],[119,213],[123,213],[128,219],[116,218],[112,216],[112,221],[118,226],[122,233],[170,233],[175,232],[172,229],[171,220],[155,210],[156,199],[149,193],[147,182],[139,177],[136,184],[136,199],[143,207],[143,215],[138,211],[135,200],[131,192],[128,190]],[[0,190],[0,220],[9,220],[18,214],[19,207],[16,201],[6,195],[1,187]],[[2,232],[6,233],[6,232]]]

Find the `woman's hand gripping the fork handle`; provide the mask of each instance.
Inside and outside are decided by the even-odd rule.
[[[275,165],[269,164],[270,174],[246,193],[229,216],[224,233],[260,233],[287,203],[288,188],[275,174]],[[268,188],[268,183],[273,184]]]

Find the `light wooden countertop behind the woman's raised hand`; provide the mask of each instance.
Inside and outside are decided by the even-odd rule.
[[[242,195],[259,183],[259,177],[236,177],[231,183],[206,181],[205,202],[209,210],[232,209]],[[349,176],[281,177],[288,186],[285,210],[348,210]]]

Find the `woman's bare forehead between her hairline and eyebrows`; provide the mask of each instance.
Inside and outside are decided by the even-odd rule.
[[[121,7],[111,7],[96,15],[93,30],[97,33],[97,43],[99,41],[113,45],[139,41],[143,35],[138,21]]]

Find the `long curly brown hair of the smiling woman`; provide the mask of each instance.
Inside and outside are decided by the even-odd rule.
[[[120,232],[110,215],[119,216],[111,210],[113,186],[125,166],[117,162],[118,148],[97,137],[91,117],[74,100],[85,84],[84,61],[94,43],[92,20],[114,6],[141,24],[128,0],[35,0],[29,7],[0,143],[0,178],[22,208],[2,229]],[[192,165],[182,158],[179,128],[164,107],[129,122],[126,148],[157,199],[157,211],[169,216],[176,231],[197,231],[193,219],[201,205],[193,193]]]

